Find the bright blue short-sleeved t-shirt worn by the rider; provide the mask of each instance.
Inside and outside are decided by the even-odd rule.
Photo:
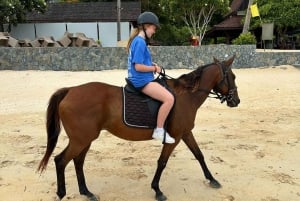
[[[151,71],[136,71],[135,64],[153,65],[146,41],[140,36],[136,36],[130,44],[128,53],[128,79],[135,87],[143,87],[154,79],[154,74]]]

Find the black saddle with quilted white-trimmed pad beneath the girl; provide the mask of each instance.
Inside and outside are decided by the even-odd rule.
[[[123,87],[123,121],[125,125],[138,128],[155,128],[161,102],[136,89],[127,78],[125,80],[127,83]],[[165,87],[167,86],[166,81],[162,78],[156,81]]]

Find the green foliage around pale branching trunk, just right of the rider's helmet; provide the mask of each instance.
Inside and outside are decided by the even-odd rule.
[[[142,7],[144,1],[142,1]],[[193,20],[190,17],[194,17],[197,20],[199,12],[203,9],[202,14],[208,15],[210,6],[213,5],[214,12],[210,19],[210,25],[214,25],[211,22],[216,23],[220,21],[222,15],[228,13],[229,0],[153,0],[150,4],[146,4],[146,9],[155,12],[162,25],[162,29],[156,34],[156,40],[160,41],[163,45],[190,45],[191,35],[203,34],[206,28],[202,26],[204,19],[202,18],[198,23],[194,23],[194,26],[199,25],[201,31],[197,27],[187,27],[184,22],[184,17],[188,20]],[[194,15],[191,15],[194,14]],[[218,20],[217,20],[218,19]],[[203,24],[202,24],[203,23]],[[207,24],[209,26],[209,24]],[[191,33],[192,32],[195,33]]]

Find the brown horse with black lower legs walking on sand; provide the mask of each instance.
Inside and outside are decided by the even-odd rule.
[[[151,183],[157,200],[167,199],[159,188],[159,180],[170,154],[181,139],[199,161],[206,179],[210,181],[210,186],[214,188],[221,187],[207,168],[192,129],[196,112],[210,93],[216,94],[222,102],[226,101],[229,107],[236,107],[240,103],[235,75],[230,68],[233,60],[234,57],[223,62],[215,59],[214,63],[198,67],[196,70],[183,74],[177,79],[166,78],[167,84],[176,97],[176,104],[170,114],[167,131],[175,138],[176,142],[174,144],[164,144],[158,159],[157,169]],[[86,195],[91,201],[97,200],[96,196],[86,186],[83,164],[92,141],[98,138],[101,130],[105,129],[125,140],[152,139],[153,130],[128,127],[123,123],[121,87],[92,82],[62,88],[56,91],[49,101],[47,109],[47,149],[38,167],[41,172],[45,170],[56,146],[61,130],[60,121],[69,136],[69,144],[54,159],[59,199],[66,195],[65,167],[73,159],[80,194]]]

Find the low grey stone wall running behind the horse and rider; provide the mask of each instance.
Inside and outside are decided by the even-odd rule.
[[[153,61],[166,69],[195,68],[236,55],[233,68],[277,66],[300,62],[300,52],[256,51],[254,45],[151,47]],[[127,53],[120,47],[0,47],[0,70],[126,69]]]

